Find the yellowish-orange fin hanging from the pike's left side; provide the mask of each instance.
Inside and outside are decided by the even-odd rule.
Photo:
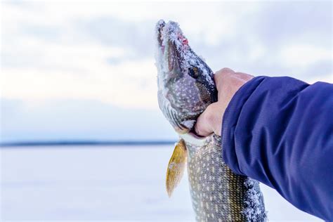
[[[181,182],[185,170],[187,158],[187,150],[185,141],[181,139],[176,144],[174,153],[169,160],[168,169],[166,170],[166,192],[168,192],[169,197],[171,197],[172,192],[176,186]]]

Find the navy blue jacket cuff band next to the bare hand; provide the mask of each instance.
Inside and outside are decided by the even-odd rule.
[[[246,110],[242,110],[244,103],[247,102],[249,97],[265,78],[266,77],[255,77],[240,87],[230,100],[230,103],[226,108],[226,112],[224,112],[223,115],[221,130],[223,160],[235,174],[244,175],[242,171],[240,171],[240,165],[237,159],[237,149],[243,148],[236,147],[235,128],[241,113],[246,112]]]

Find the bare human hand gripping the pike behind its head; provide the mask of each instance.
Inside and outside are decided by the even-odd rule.
[[[234,72],[229,68],[216,72],[214,80],[218,90],[218,101],[211,103],[197,118],[195,133],[199,136],[209,136],[211,133],[221,136],[223,114],[230,100],[236,91],[252,78],[250,74]]]

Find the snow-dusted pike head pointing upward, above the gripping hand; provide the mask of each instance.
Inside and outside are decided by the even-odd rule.
[[[157,22],[156,42],[159,108],[178,133],[188,133],[217,101],[214,73],[192,51],[176,22]]]

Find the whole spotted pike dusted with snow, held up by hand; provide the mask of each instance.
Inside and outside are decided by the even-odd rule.
[[[197,117],[217,101],[214,72],[177,22],[157,22],[155,46],[159,109],[179,136],[166,169],[169,197],[187,168],[196,221],[266,221],[259,182],[226,165],[221,136],[200,137],[193,130]]]

